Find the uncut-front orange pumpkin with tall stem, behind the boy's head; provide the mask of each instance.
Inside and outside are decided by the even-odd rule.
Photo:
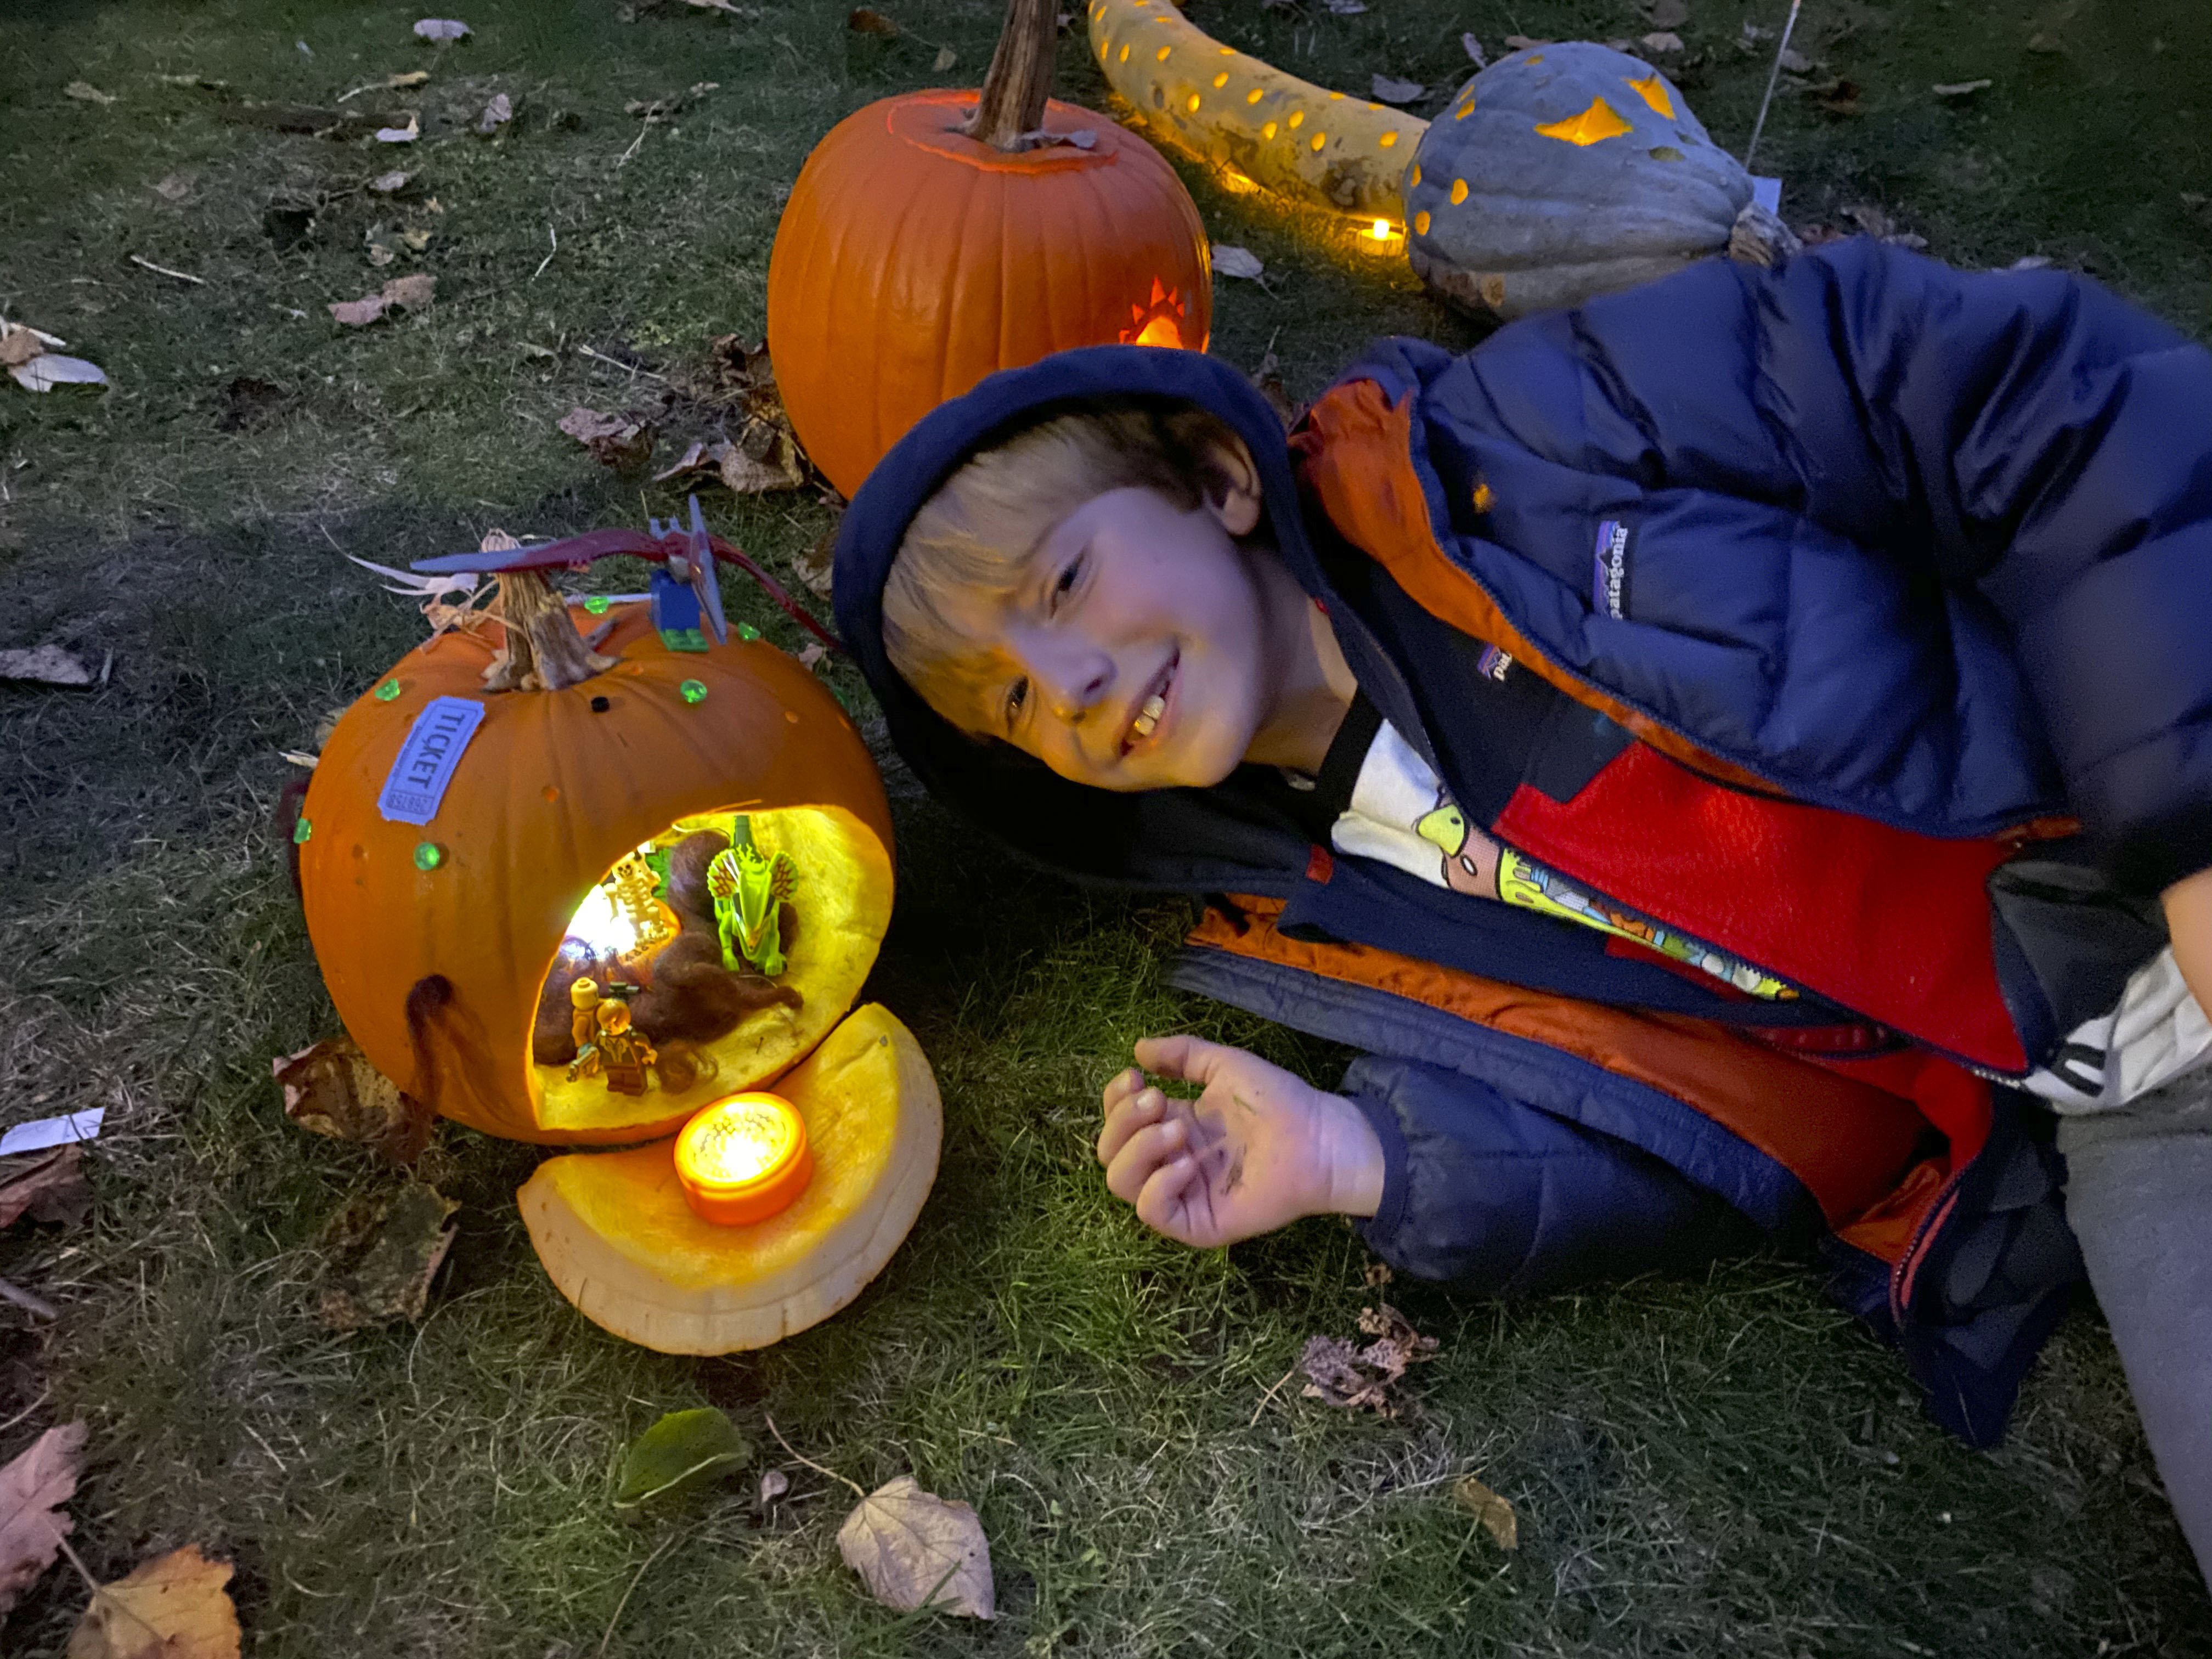
[[[845,495],[995,369],[1075,345],[1206,349],[1199,210],[1135,133],[1046,102],[1053,15],[1055,0],[1009,0],[980,93],[869,104],[792,186],[768,352],[799,440]]]

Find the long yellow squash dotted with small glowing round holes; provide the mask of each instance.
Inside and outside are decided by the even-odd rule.
[[[1349,215],[1371,241],[1400,246],[1400,179],[1429,126],[1418,115],[1285,75],[1192,27],[1170,0],[1091,0],[1091,53],[1133,119],[1223,168],[1232,190],[1243,181]]]

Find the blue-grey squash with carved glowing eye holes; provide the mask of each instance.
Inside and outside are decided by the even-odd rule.
[[[1752,179],[1650,64],[1588,40],[1484,69],[1407,170],[1407,257],[1442,299],[1522,316],[1728,248]]]

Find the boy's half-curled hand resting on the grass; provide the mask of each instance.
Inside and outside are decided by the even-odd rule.
[[[1148,1228],[1212,1250],[1380,1206],[1383,1144],[1343,1095],[1199,1037],[1146,1037],[1137,1066],[1206,1086],[1199,1099],[1168,1099],[1135,1066],[1106,1084],[1099,1164]]]

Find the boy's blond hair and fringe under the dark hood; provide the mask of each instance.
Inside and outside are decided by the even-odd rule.
[[[969,708],[989,664],[949,602],[995,602],[1022,586],[1029,555],[1060,520],[1110,489],[1157,489],[1194,511],[1230,487],[1234,429],[1197,405],[1128,403],[1048,416],[980,449],[907,524],[883,584],[883,650],[938,712]]]

